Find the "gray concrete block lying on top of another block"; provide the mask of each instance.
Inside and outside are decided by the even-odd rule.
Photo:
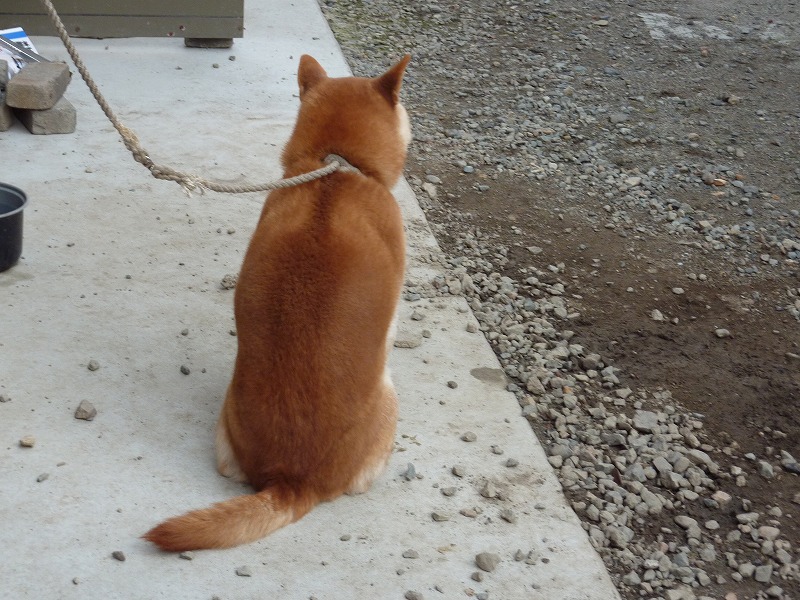
[[[30,63],[8,82],[6,104],[33,110],[53,108],[71,77],[66,63]]]

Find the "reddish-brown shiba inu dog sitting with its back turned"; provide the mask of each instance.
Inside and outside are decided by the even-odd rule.
[[[397,421],[387,370],[405,268],[391,188],[411,139],[399,102],[410,56],[376,78],[328,77],[300,59],[284,177],[330,155],[354,169],[273,191],[236,286],[238,351],[216,431],[220,473],[255,494],[158,525],[169,551],[252,542],[320,502],[365,492]]]

